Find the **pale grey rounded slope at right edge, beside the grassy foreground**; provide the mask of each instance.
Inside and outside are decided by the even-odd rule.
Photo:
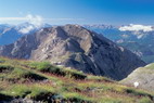
[[[145,67],[139,67],[127,78],[121,80],[121,83],[124,85],[133,86],[134,82],[139,82],[138,88],[154,92],[154,64],[149,64]]]

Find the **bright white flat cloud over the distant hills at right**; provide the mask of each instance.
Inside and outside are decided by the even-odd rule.
[[[129,26],[123,26],[123,27],[119,27],[119,30],[121,31],[126,31],[126,30],[130,30],[130,31],[140,31],[140,30],[143,30],[143,31],[152,31],[154,30],[152,26],[144,26],[144,25],[133,25],[133,24],[130,24]]]

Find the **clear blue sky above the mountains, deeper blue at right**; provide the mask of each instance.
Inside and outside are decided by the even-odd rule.
[[[154,0],[0,0],[0,23],[31,18],[53,25],[153,25]]]

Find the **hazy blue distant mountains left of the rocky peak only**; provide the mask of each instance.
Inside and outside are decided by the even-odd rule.
[[[23,23],[20,25],[0,25],[0,46],[10,44],[15,42],[21,37],[33,34],[43,27],[51,27],[51,25],[44,24],[41,27],[36,27],[30,23]]]

